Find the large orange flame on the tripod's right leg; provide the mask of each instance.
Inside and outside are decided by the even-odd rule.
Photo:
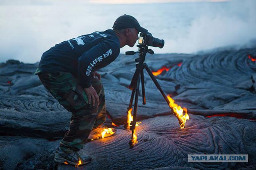
[[[185,127],[185,123],[186,120],[189,119],[188,116],[188,111],[187,109],[184,107],[182,109],[182,107],[178,106],[176,103],[174,103],[175,101],[170,97],[170,95],[167,96],[168,100],[169,100],[169,106],[170,108],[172,108],[174,115],[178,118],[179,123],[180,123],[180,129],[183,129]],[[185,115],[183,115],[183,111],[185,112]]]

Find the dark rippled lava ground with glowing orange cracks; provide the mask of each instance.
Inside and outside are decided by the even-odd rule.
[[[88,142],[92,162],[78,169],[255,169],[256,49],[204,55],[148,55],[146,63],[175,103],[188,109],[184,129],[145,72],[146,105],[139,96],[138,143],[124,128],[137,56],[120,55],[102,69],[114,137]],[[32,75],[37,64],[0,65],[0,169],[74,169],[53,162],[67,130],[64,110]],[[160,71],[162,70],[162,71]],[[188,154],[248,154],[249,162],[188,162]]]

